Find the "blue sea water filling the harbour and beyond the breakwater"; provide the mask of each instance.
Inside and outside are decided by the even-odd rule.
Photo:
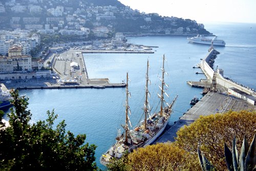
[[[214,69],[224,70],[224,76],[256,89],[256,23],[205,23],[205,29],[223,39],[226,46],[216,46],[220,52]],[[146,62],[150,63],[149,90],[151,113],[159,110],[161,67],[163,55],[166,58],[164,69],[168,73],[164,81],[169,88],[165,91],[166,102],[171,103],[176,94],[177,102],[168,125],[173,125],[187,110],[194,96],[202,97],[201,88],[187,85],[187,81],[205,79],[199,68],[208,52],[209,45],[188,43],[186,36],[144,36],[127,37],[129,43],[153,47],[154,54],[83,54],[89,78],[108,78],[111,83],[126,82],[129,74],[128,87],[131,93],[129,106],[131,109],[132,126],[135,127],[143,113],[145,99]],[[28,109],[31,110],[31,123],[47,118],[47,110],[58,114],[56,124],[65,120],[67,127],[75,135],[86,134],[86,142],[96,144],[97,165],[99,158],[113,143],[121,124],[125,121],[125,88],[105,89],[39,89],[20,90],[20,94],[29,96]],[[5,118],[7,116],[5,115]],[[171,129],[171,128],[170,128]]]

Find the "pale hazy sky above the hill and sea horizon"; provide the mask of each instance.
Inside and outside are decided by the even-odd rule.
[[[256,23],[256,0],[118,0],[132,9],[196,20]]]

